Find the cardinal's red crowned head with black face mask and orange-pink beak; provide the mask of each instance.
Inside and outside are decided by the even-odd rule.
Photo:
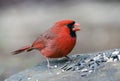
[[[67,27],[70,30],[70,35],[72,37],[76,37],[75,32],[80,30],[80,28],[78,27],[80,26],[80,24],[76,23],[73,20],[60,20],[56,22],[56,25],[58,25],[59,27]]]

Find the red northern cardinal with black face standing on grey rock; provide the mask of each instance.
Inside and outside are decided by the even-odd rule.
[[[80,30],[78,26],[80,24],[73,20],[58,21],[40,35],[31,46],[22,47],[14,51],[13,55],[37,49],[47,58],[48,67],[50,67],[48,58],[67,57],[72,51],[76,44],[76,31]]]

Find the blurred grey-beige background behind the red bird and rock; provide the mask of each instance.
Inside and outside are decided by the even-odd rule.
[[[61,19],[81,24],[71,54],[120,48],[119,0],[0,0],[0,81],[45,60],[38,51],[11,52]]]

